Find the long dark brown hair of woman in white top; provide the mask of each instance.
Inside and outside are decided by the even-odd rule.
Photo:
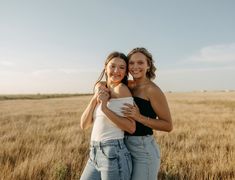
[[[116,57],[117,57],[117,58],[120,58],[120,59],[123,59],[123,60],[125,61],[125,63],[126,63],[126,75],[124,76],[124,78],[122,79],[121,82],[122,82],[123,84],[127,85],[127,83],[128,83],[128,68],[127,68],[127,66],[128,66],[128,59],[127,59],[127,57],[126,57],[125,54],[123,54],[123,53],[121,53],[121,52],[117,52],[117,51],[114,51],[114,52],[110,53],[110,54],[108,55],[108,57],[106,58],[105,64],[104,64],[104,69],[102,70],[102,72],[101,72],[101,74],[100,74],[98,80],[96,81],[95,85],[96,85],[97,83],[99,83],[99,82],[103,79],[104,75],[105,75],[105,79],[106,79],[106,81],[107,81],[107,75],[105,74],[105,67],[107,66],[107,64],[109,63],[109,61],[111,61],[113,58],[116,58]],[[94,87],[95,87],[95,86],[94,86]]]

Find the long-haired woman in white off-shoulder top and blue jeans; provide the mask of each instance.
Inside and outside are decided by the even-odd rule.
[[[113,52],[97,81],[105,75],[109,92],[95,92],[81,116],[81,128],[93,124],[89,160],[81,180],[129,180],[132,161],[124,144],[124,131],[135,132],[135,121],[123,116],[124,103],[133,104],[127,84],[127,57]],[[96,84],[97,84],[96,83]]]

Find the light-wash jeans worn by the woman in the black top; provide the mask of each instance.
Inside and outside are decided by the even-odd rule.
[[[125,136],[131,153],[132,180],[156,180],[160,169],[160,149],[152,135]]]

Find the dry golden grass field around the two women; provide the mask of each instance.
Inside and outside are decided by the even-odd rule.
[[[159,179],[235,179],[235,92],[167,93],[174,130],[155,132]],[[0,179],[79,179],[90,96],[0,101]]]

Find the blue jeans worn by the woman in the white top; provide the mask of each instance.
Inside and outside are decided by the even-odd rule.
[[[132,161],[123,139],[92,141],[80,180],[129,180]]]

